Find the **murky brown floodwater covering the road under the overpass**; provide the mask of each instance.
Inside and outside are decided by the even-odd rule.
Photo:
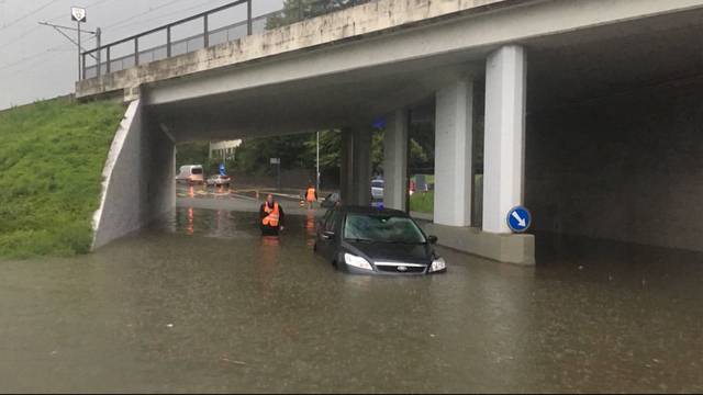
[[[261,238],[242,206],[0,262],[0,391],[703,391],[700,255],[557,240],[533,269],[442,249],[446,274],[355,276],[312,214]]]

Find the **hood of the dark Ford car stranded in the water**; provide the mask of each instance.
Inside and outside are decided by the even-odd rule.
[[[353,253],[360,252],[371,261],[395,261],[429,264],[433,258],[428,245],[406,245],[387,242],[344,242]]]

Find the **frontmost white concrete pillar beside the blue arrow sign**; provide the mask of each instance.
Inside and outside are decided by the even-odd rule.
[[[505,216],[523,202],[525,52],[504,46],[486,67],[483,230],[510,233]]]

